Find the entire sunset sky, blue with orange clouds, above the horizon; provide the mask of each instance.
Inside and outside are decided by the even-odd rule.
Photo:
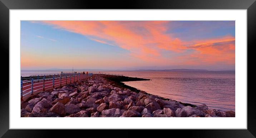
[[[235,69],[235,21],[21,21],[21,69]]]

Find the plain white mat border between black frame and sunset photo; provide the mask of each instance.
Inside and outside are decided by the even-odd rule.
[[[236,20],[235,118],[20,118],[20,20]],[[247,10],[10,10],[10,129],[247,129]]]

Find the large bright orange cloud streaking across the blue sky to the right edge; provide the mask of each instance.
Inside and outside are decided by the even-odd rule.
[[[64,29],[87,36],[93,41],[120,46],[129,50],[130,55],[147,62],[158,64],[177,63],[215,64],[235,63],[235,38],[225,36],[197,41],[182,41],[167,34],[168,21],[42,21],[54,28]],[[167,50],[192,54],[164,58],[161,51]],[[160,61],[160,62],[159,62]]]

